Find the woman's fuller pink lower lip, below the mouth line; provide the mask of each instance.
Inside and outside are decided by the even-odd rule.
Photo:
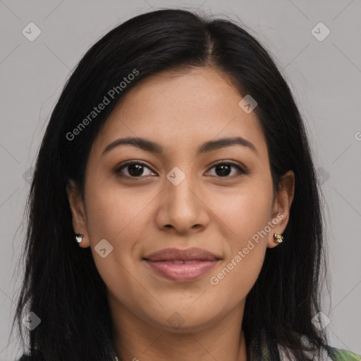
[[[214,261],[197,261],[195,263],[173,264],[168,261],[149,261],[145,260],[154,271],[166,279],[176,282],[193,281],[210,271],[218,262]]]

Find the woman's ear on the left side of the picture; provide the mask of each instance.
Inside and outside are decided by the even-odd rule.
[[[66,185],[66,194],[68,195],[68,200],[71,207],[74,233],[81,233],[82,235],[84,235],[84,237],[82,238],[82,242],[79,245],[82,248],[89,247],[90,242],[87,232],[87,219],[85,214],[84,201],[82,200],[82,196],[80,194],[80,191],[78,190],[78,187],[71,179]]]

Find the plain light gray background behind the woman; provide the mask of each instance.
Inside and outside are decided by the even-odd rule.
[[[310,133],[325,198],[331,345],[361,354],[361,2],[0,0],[0,361],[19,355],[9,326],[20,286],[22,216],[49,114],[69,73],[118,23],[160,7],[200,8],[237,21],[276,58]],[[223,14],[223,15],[221,15]],[[41,35],[22,33],[33,22]],[[312,35],[319,22],[331,33]],[[314,31],[324,35],[324,29]],[[49,240],[51,242],[51,240]]]

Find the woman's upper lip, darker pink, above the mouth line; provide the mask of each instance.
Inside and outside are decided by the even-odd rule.
[[[169,261],[169,260],[182,260],[182,261],[193,261],[193,260],[218,260],[219,257],[216,257],[211,252],[202,250],[202,248],[186,248],[185,250],[180,250],[178,248],[164,248],[164,250],[159,250],[157,252],[151,253],[144,257],[149,261]]]

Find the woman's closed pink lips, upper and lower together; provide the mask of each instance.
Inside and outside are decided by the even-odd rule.
[[[201,248],[166,248],[144,258],[160,276],[176,282],[199,279],[219,262],[219,257]]]

